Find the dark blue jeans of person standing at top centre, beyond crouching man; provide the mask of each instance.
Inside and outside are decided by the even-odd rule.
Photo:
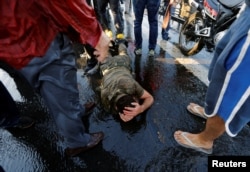
[[[133,0],[135,14],[134,34],[136,48],[142,47],[142,20],[144,10],[147,9],[149,23],[149,49],[155,49],[158,37],[158,10],[160,0]]]

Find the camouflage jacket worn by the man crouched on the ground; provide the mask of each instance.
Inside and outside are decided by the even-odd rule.
[[[143,88],[135,81],[131,72],[129,56],[120,53],[117,56],[108,57],[100,64],[103,75],[101,83],[101,103],[107,112],[117,113],[116,101],[125,94],[140,98]]]

